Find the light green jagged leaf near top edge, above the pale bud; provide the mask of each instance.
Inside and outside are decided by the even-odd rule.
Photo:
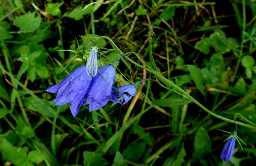
[[[73,18],[76,21],[81,20],[83,15],[87,15],[93,12],[93,5],[88,6],[86,9],[82,10],[82,6],[74,8],[73,11],[63,14],[63,17]]]

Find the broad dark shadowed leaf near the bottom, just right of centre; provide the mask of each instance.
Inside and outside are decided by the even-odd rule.
[[[146,143],[145,142],[137,142],[134,144],[130,144],[123,150],[123,157],[126,160],[129,161],[138,161],[139,158],[142,157],[144,151],[146,148]]]

